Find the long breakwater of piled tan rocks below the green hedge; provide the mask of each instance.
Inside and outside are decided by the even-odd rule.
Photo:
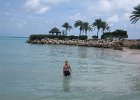
[[[27,40],[27,43],[31,44],[54,44],[54,45],[76,45],[76,46],[86,46],[86,47],[98,47],[98,48],[112,48],[115,50],[122,50],[122,42],[121,41],[105,41],[105,40],[59,40],[59,39],[35,39]]]

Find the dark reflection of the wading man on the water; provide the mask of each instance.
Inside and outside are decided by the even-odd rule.
[[[63,77],[63,91],[64,92],[70,91],[70,82],[71,82],[71,76]]]

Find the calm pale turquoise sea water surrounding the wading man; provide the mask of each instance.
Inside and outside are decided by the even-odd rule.
[[[0,38],[0,100],[140,100],[140,51],[25,41]]]

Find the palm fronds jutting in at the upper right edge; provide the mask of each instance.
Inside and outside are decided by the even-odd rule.
[[[130,21],[135,24],[140,19],[140,4],[134,7],[134,11],[131,14]]]

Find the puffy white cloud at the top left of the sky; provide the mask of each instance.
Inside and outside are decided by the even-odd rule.
[[[27,0],[25,3],[25,8],[28,11],[42,14],[47,12],[52,7],[52,5],[68,1],[70,0]]]

